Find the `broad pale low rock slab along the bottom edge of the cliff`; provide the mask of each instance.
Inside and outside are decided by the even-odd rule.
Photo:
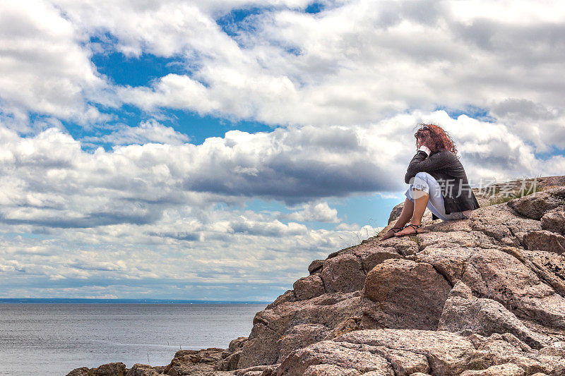
[[[499,334],[470,338],[450,332],[415,329],[359,330],[294,351],[275,374],[302,375],[312,365],[321,364],[332,365],[330,369],[336,372],[354,369],[363,375],[371,371],[375,375],[412,375],[417,372],[460,375],[466,370],[483,371],[477,375],[496,375],[492,372],[513,372],[518,368],[531,375],[557,369],[535,360],[535,353],[525,351],[519,343],[515,337],[507,341]],[[507,365],[509,363],[517,368]],[[492,368],[496,365],[501,366]]]

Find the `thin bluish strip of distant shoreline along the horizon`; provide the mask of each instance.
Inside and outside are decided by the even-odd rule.
[[[268,304],[269,301],[196,301],[182,299],[0,298],[0,304]]]

